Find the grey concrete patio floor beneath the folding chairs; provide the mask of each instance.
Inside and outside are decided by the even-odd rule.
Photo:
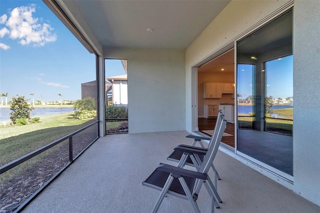
[[[99,138],[22,212],[150,212],[159,191],[142,181],[180,143],[185,131],[114,134]],[[320,207],[218,151],[214,165],[223,201],[215,212],[320,212]],[[211,171],[210,171],[211,172]],[[213,174],[210,173],[213,177]],[[210,199],[202,187],[201,212]],[[187,200],[168,195],[158,212],[193,212]]]

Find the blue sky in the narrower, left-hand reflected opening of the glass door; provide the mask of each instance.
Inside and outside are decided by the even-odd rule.
[[[252,64],[238,64],[236,93],[241,95],[239,99],[252,95],[252,67]]]

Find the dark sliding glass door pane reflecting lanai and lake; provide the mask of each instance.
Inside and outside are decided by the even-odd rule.
[[[237,41],[236,50],[237,151],[293,176],[292,9]]]

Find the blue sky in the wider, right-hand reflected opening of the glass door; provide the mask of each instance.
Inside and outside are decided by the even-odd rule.
[[[266,96],[293,96],[293,55],[266,62]]]

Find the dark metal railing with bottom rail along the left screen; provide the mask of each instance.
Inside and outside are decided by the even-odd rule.
[[[57,139],[45,146],[42,146],[41,148],[38,148],[16,160],[13,160],[5,165],[2,165],[0,167],[0,174],[4,173],[5,171],[14,168],[15,166],[23,163],[24,161],[42,153],[43,151],[63,142],[64,140],[68,139],[69,140],[69,162],[66,163],[60,170],[58,170],[50,179],[48,179],[46,182],[43,183],[43,185],[41,187],[39,187],[31,196],[29,196],[26,200],[24,200],[23,203],[21,203],[15,210],[14,212],[19,212],[20,210],[22,210],[39,192],[41,192],[52,180],[54,180],[67,166],[69,166],[86,148],[88,148],[97,138],[98,138],[98,134],[97,136],[88,144],[86,145],[79,153],[77,153],[76,156],[73,157],[73,144],[72,144],[72,137],[76,134],[78,134],[79,132],[89,128],[90,126],[98,123],[99,120],[96,120],[92,123],[90,123],[89,125],[86,125],[70,134],[67,134],[64,137],[61,137],[60,139]]]

